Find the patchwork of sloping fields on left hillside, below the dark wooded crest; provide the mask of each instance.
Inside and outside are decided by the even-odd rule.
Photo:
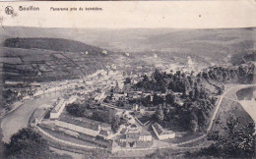
[[[94,49],[97,52],[92,51]],[[105,69],[112,63],[111,59],[115,55],[105,56],[98,49],[91,46],[88,50],[92,52],[86,54],[39,48],[2,47],[0,48],[1,72],[3,74],[1,79],[2,81],[8,79],[29,82],[77,79],[92,74],[96,70]]]

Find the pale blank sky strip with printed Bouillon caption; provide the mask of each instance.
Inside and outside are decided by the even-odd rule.
[[[7,15],[11,6],[14,15]],[[19,7],[39,11],[20,11]],[[50,11],[50,8],[97,7],[101,11]],[[256,27],[256,0],[1,2],[3,27],[229,28]]]

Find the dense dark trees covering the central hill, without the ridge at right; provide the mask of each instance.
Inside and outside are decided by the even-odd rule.
[[[159,70],[134,85],[137,89],[160,91],[165,96],[154,94],[151,104],[157,106],[156,120],[163,127],[182,128],[183,131],[202,132],[211,116],[216,98],[204,87],[202,79],[185,75],[161,73]],[[142,104],[149,103],[148,98]]]

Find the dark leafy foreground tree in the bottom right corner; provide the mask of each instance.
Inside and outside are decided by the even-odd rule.
[[[193,156],[214,156],[218,158],[253,158],[255,156],[254,123],[247,123],[241,127],[240,119],[231,115],[225,123],[226,133],[218,131],[208,135],[209,140],[215,141],[211,146],[202,148]]]

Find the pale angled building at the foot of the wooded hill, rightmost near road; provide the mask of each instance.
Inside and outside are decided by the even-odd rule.
[[[160,140],[175,137],[175,132],[163,130],[163,128],[157,122],[152,125],[152,129]]]

